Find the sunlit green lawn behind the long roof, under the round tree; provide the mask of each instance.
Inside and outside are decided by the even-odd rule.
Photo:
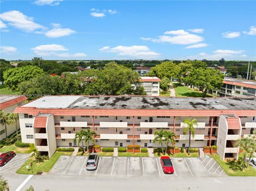
[[[187,86],[179,85],[177,83],[173,84],[175,89],[176,97],[202,97],[202,92],[197,92],[192,88],[188,88]],[[213,97],[210,94],[207,94],[207,97]]]

